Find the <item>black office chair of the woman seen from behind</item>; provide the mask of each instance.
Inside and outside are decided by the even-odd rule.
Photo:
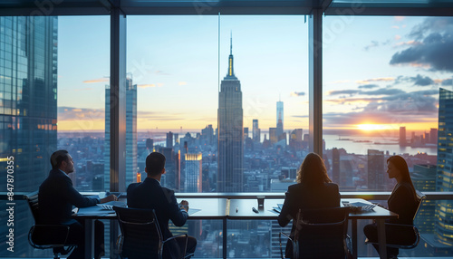
[[[292,258],[350,258],[347,244],[349,207],[299,210],[294,237],[280,233],[280,254],[284,258],[282,235],[293,245]],[[292,235],[293,236],[293,235]]]

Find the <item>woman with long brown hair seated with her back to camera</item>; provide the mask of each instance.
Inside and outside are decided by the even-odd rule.
[[[278,216],[281,226],[295,219],[299,209],[313,209],[340,206],[340,192],[338,186],[332,183],[327,176],[323,158],[318,154],[308,154],[297,172],[297,184],[288,187],[284,197],[284,206]],[[294,237],[295,220],[291,236]],[[286,258],[292,258],[293,247],[288,240],[286,244]]]

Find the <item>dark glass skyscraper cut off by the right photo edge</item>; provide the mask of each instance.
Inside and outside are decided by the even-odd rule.
[[[453,191],[453,91],[439,89],[438,167],[436,190]],[[435,238],[441,244],[453,244],[452,201],[441,200],[436,204]]]

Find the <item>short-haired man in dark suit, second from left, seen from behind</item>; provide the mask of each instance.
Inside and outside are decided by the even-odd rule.
[[[154,209],[159,221],[159,227],[164,239],[171,237],[169,219],[174,225],[182,226],[188,219],[188,201],[181,201],[178,205],[175,192],[160,186],[160,177],[165,174],[165,156],[152,152],[146,158],[145,171],[148,177],[142,183],[130,184],[128,187],[128,206],[134,208]],[[164,258],[179,257],[179,251],[184,248],[184,237],[177,238],[178,244],[165,245]],[[171,246],[171,247],[169,247]],[[195,252],[197,239],[188,236],[187,254]]]

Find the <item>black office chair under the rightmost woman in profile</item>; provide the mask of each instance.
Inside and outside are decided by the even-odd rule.
[[[417,206],[417,210],[415,211],[414,218],[412,219],[415,221],[415,217],[419,213],[419,208],[421,204],[423,203],[423,200],[426,198],[424,194],[422,194],[419,191],[416,191],[417,193],[417,201],[419,202],[419,206]],[[392,228],[395,228],[396,231],[398,232],[411,232],[413,231],[414,233],[414,238],[413,240],[408,240],[406,243],[401,243],[401,244],[389,244],[387,243],[386,246],[388,247],[393,247],[393,248],[401,248],[401,249],[412,249],[415,248],[417,245],[419,245],[420,242],[420,234],[419,234],[419,229],[415,225],[403,225],[403,224],[393,224],[393,223],[386,223],[385,225],[391,225]],[[379,243],[371,242],[368,240],[368,238],[365,240],[365,244],[374,244],[374,245],[379,245]]]

